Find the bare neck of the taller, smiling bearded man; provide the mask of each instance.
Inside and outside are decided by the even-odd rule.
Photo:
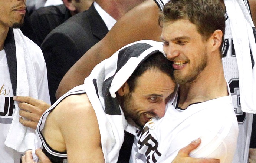
[[[180,85],[179,104],[181,108],[197,102],[227,96],[227,83],[224,77],[222,62],[212,61],[191,83]],[[217,62],[217,64],[216,64]]]

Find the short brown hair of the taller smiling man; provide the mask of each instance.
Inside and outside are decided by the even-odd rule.
[[[170,0],[165,4],[158,23],[188,19],[197,26],[198,33],[208,40],[215,30],[225,34],[225,10],[220,0]],[[222,44],[219,48],[222,54]]]

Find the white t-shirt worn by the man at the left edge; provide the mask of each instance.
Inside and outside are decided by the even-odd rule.
[[[50,104],[46,64],[41,49],[24,36],[37,76],[38,98]],[[17,53],[19,53],[17,51]],[[4,145],[14,116],[13,90],[5,50],[0,51],[0,163],[20,163],[22,153]],[[33,141],[33,140],[32,140]]]

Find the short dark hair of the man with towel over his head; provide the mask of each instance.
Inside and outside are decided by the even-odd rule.
[[[132,92],[136,87],[137,78],[140,77],[145,71],[149,69],[157,69],[171,77],[173,67],[171,61],[169,61],[161,52],[157,52],[143,61],[140,66],[132,73],[127,80],[129,90]]]

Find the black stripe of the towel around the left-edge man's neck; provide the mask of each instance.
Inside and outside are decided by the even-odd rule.
[[[14,40],[13,29],[9,28],[6,40],[4,42],[4,50],[6,53],[7,64],[10,72],[13,96],[16,96],[17,88],[17,58],[16,58],[16,46]]]

